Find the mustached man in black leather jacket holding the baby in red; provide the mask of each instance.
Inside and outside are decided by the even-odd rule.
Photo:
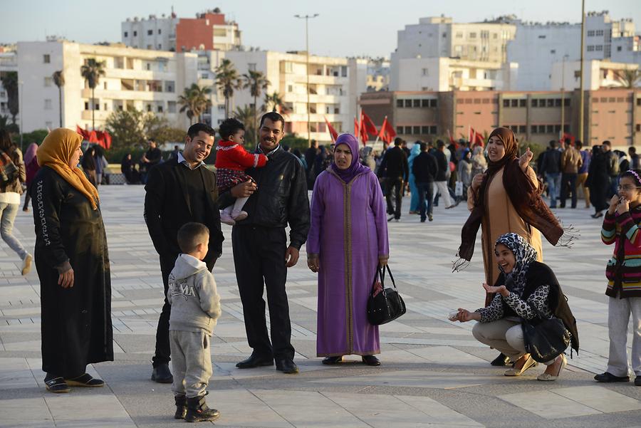
[[[256,184],[246,182],[231,188],[229,197],[246,197],[247,219],[231,231],[236,280],[243,303],[245,330],[251,356],[239,368],[273,365],[285,373],[297,373],[291,345],[291,322],[285,283],[287,268],[296,265],[298,250],[307,240],[309,199],[305,169],[298,158],[285,152],[279,142],[285,120],[276,112],[263,115],[256,153],[269,157],[267,165],[246,170]],[[226,204],[226,202],[224,203]],[[285,228],[289,224],[289,245]],[[267,288],[271,343],[265,318],[264,288]]]

